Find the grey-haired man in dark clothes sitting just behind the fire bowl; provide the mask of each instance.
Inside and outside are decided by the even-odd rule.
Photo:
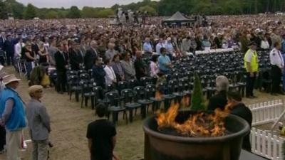
[[[208,110],[216,110],[220,108],[224,110],[224,106],[227,105],[227,91],[229,90],[229,80],[220,75],[216,78],[217,95],[214,95],[209,99]]]

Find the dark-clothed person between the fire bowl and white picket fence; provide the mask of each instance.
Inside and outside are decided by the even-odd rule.
[[[239,92],[227,92],[227,100],[232,103],[231,114],[237,115],[249,123],[249,127],[252,127],[252,111],[242,103],[242,96]],[[252,146],[249,141],[250,132],[244,137],[242,142],[242,149],[252,151]]]

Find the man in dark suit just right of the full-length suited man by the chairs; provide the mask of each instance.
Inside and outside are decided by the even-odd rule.
[[[83,53],[80,50],[80,45],[76,42],[71,42],[71,47],[68,50],[71,70],[80,70],[83,65]]]

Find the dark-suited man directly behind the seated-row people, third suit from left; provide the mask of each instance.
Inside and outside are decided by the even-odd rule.
[[[98,56],[96,48],[97,48],[97,42],[91,41],[90,48],[86,50],[86,54],[84,56],[84,65],[86,70],[90,70],[93,67],[94,60]]]

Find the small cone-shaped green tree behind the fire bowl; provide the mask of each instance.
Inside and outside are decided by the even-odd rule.
[[[204,97],[202,92],[202,85],[197,73],[194,74],[194,89],[191,99],[191,110],[199,111],[206,110]]]

